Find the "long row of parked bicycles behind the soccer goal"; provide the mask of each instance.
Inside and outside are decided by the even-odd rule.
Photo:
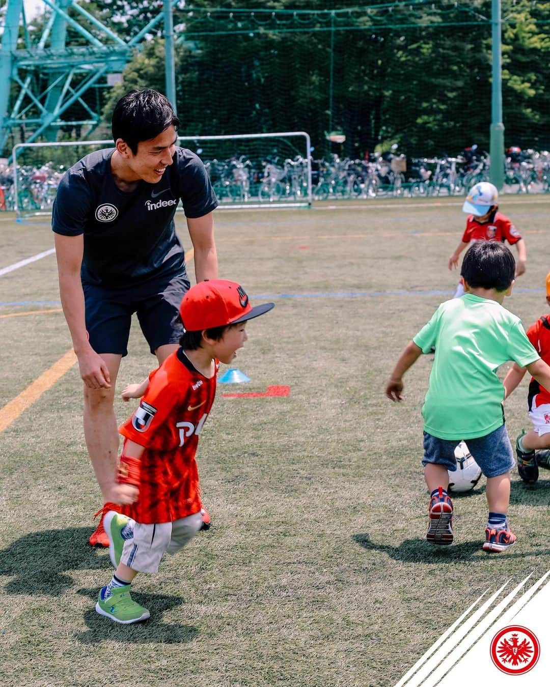
[[[220,203],[307,201],[308,164],[305,157],[280,159],[236,155],[205,159]],[[45,164],[17,170],[19,210],[50,210],[65,168]],[[373,199],[380,196],[461,195],[478,181],[489,179],[489,156],[476,146],[456,157],[412,158],[395,152],[365,159],[311,160],[311,194],[316,200]],[[505,162],[505,193],[549,192],[550,153],[509,148]],[[12,168],[0,166],[0,210],[13,210]]]

